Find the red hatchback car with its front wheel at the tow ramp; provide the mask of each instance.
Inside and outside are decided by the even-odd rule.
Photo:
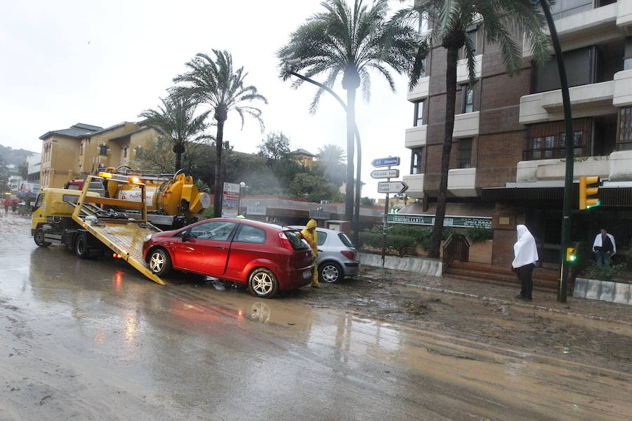
[[[246,219],[204,220],[151,234],[143,258],[158,276],[171,269],[247,285],[270,298],[312,281],[312,250],[296,229]]]

